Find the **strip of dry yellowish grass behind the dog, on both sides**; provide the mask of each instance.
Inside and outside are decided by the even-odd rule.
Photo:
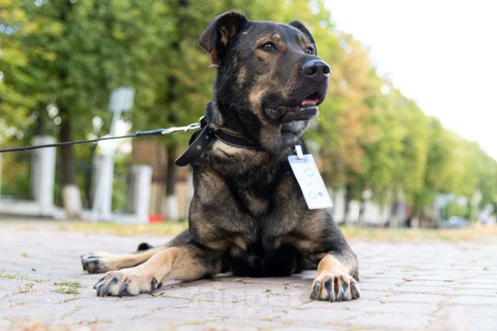
[[[60,231],[79,231],[87,234],[108,234],[125,236],[174,236],[188,227],[186,221],[138,225],[112,223],[71,222],[59,225]],[[410,228],[367,228],[354,225],[341,226],[347,239],[385,241],[448,241],[448,242],[495,242],[497,226],[474,225],[463,229],[410,229]]]

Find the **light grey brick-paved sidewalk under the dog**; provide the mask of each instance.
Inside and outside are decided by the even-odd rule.
[[[497,245],[352,242],[362,297],[351,302],[310,300],[315,272],[171,282],[154,295],[100,298],[93,284],[101,275],[84,274],[79,255],[164,238],[20,227],[0,222],[0,329],[497,329]],[[63,293],[72,291],[67,281],[80,283],[79,294]]]

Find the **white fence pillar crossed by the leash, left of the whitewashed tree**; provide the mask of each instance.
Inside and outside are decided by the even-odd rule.
[[[55,142],[56,139],[49,136],[35,136],[32,141],[33,145]],[[31,185],[33,197],[38,202],[42,213],[53,209],[56,158],[55,147],[35,149],[32,154]]]

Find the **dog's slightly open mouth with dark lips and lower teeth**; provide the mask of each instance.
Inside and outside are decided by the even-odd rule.
[[[293,102],[289,105],[268,106],[264,108],[266,116],[272,122],[288,123],[292,121],[302,121],[317,116],[319,109],[317,105],[321,101],[318,92],[314,92],[300,102]]]

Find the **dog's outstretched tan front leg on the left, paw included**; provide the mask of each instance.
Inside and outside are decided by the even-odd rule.
[[[221,252],[194,243],[164,249],[132,268],[107,272],[94,286],[98,296],[150,293],[168,280],[196,280],[217,274]]]

